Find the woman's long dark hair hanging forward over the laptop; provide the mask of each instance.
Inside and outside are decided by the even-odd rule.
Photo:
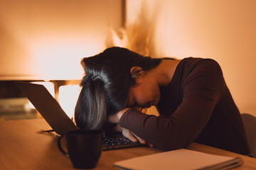
[[[102,128],[107,115],[128,106],[129,89],[136,83],[131,68],[138,66],[146,71],[160,62],[161,59],[144,57],[122,47],[110,47],[98,55],[83,58],[85,77],[75,106],[78,128]]]

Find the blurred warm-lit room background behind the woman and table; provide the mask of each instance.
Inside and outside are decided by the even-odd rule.
[[[71,117],[80,60],[114,45],[212,58],[240,112],[256,115],[255,8],[255,0],[0,0],[0,120],[40,117],[14,81],[45,84]]]

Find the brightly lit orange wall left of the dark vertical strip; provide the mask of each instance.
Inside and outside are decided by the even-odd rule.
[[[0,0],[0,76],[80,79],[80,59],[122,24],[121,0]]]

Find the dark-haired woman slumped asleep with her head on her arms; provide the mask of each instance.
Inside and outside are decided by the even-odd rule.
[[[250,153],[240,112],[214,60],[156,59],[111,47],[81,64],[78,128],[112,123],[129,140],[165,151],[198,142]],[[159,115],[142,113],[151,106]]]

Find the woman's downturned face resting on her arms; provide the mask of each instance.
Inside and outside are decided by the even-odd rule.
[[[154,77],[144,75],[136,79],[129,93],[129,108],[150,108],[159,103],[160,90]]]

